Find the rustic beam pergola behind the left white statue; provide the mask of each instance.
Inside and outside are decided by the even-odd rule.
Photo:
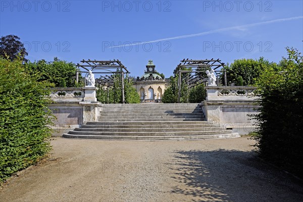
[[[119,60],[82,60],[81,64],[77,64],[77,74],[76,81],[79,79],[80,73],[87,73],[89,70],[94,74],[102,74],[99,79],[96,79],[96,82],[99,85],[103,86],[112,86],[114,84],[114,74],[121,74],[121,83],[122,83],[122,103],[125,103],[124,97],[124,74],[129,74],[130,72],[126,69],[126,67]],[[80,71],[79,68],[82,68],[86,71]],[[116,69],[116,71],[112,71]],[[105,75],[104,75],[105,74]]]

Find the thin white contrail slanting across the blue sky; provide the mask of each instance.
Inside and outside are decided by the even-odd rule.
[[[303,16],[297,16],[297,17],[291,17],[291,18],[281,18],[281,19],[269,20],[269,21],[252,23],[252,24],[247,24],[247,25],[239,25],[239,26],[233,26],[233,27],[226,27],[226,28],[222,28],[222,29],[214,29],[214,30],[211,30],[211,31],[200,32],[200,33],[196,33],[196,34],[188,34],[188,35],[181,35],[181,36],[175,36],[175,37],[170,37],[170,38],[162,38],[162,39],[157,39],[157,40],[153,40],[153,41],[128,43],[128,44],[124,44],[124,45],[114,45],[114,46],[110,46],[110,47],[107,47],[107,48],[122,47],[122,46],[133,46],[133,45],[139,45],[139,44],[143,44],[143,43],[155,43],[155,42],[159,42],[159,41],[174,40],[174,39],[180,39],[180,38],[189,38],[189,37],[202,36],[202,35],[207,35],[207,34],[212,34],[212,33],[218,33],[218,32],[233,30],[233,29],[242,29],[242,28],[247,28],[247,27],[255,27],[255,26],[259,26],[259,25],[266,25],[266,24],[284,22],[284,21],[289,21],[289,20],[297,20],[297,19],[302,19],[302,18],[303,18]]]

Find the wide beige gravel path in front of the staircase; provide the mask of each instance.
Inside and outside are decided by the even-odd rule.
[[[250,144],[56,138],[51,158],[2,187],[0,201],[303,201],[301,182]]]

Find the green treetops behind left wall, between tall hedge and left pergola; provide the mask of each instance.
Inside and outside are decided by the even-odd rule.
[[[54,58],[53,62],[45,60],[26,63],[31,74],[39,74],[38,81],[54,83],[55,87],[80,87],[75,82],[76,67],[73,63]]]

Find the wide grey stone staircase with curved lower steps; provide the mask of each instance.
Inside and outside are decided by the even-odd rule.
[[[116,140],[190,140],[238,137],[206,121],[198,104],[105,104],[98,122],[63,137]]]

